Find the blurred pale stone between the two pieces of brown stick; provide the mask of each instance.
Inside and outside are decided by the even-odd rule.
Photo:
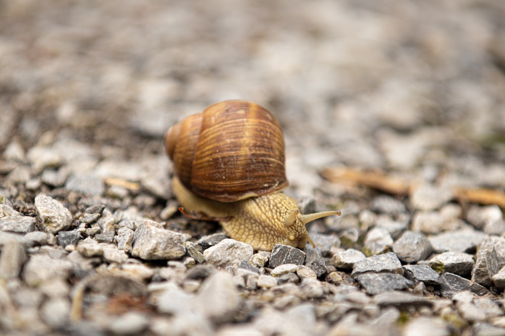
[[[420,184],[410,191],[411,205],[424,211],[439,209],[452,197],[452,189],[449,186]]]

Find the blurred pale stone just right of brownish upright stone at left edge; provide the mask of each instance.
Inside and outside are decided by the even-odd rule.
[[[34,254],[26,262],[22,275],[28,286],[38,287],[55,278],[68,279],[71,268],[70,261]]]

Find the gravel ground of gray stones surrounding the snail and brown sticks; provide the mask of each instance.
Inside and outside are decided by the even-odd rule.
[[[0,0],[0,333],[505,335],[505,3]],[[177,212],[165,130],[269,108],[317,244]],[[408,181],[331,183],[347,167]],[[481,202],[482,203],[482,202]],[[503,205],[501,205],[503,207]]]

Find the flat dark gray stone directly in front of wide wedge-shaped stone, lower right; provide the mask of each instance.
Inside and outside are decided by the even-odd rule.
[[[365,273],[356,276],[355,279],[369,295],[402,290],[413,286],[410,280],[399,274],[392,273]]]

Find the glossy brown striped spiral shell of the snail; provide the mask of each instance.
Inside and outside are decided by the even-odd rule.
[[[265,108],[243,100],[207,107],[172,126],[165,149],[194,193],[230,202],[285,189],[284,139]]]

